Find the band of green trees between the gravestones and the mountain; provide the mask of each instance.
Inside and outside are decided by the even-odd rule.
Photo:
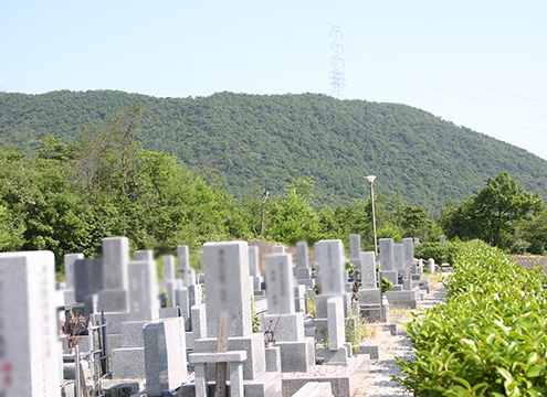
[[[143,115],[144,106],[134,105],[84,127],[69,143],[46,133],[31,153],[0,146],[0,250],[52,250],[61,271],[64,254],[99,255],[108,236],[127,236],[134,249],[157,255],[234,238],[347,243],[349,234],[372,249],[369,198],[313,205],[313,176],[287,183],[276,196],[259,185],[236,198],[217,171],[196,173],[171,154],[145,150],[137,140]],[[469,200],[448,204],[436,222],[400,193],[377,194],[375,208],[378,238],[438,242],[445,234],[537,254],[547,246],[543,201],[506,172]]]

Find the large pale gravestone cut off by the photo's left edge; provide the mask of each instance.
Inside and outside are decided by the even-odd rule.
[[[51,251],[0,254],[0,396],[60,396]]]

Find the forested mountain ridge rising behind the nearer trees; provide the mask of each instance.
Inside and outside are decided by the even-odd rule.
[[[433,214],[508,171],[525,190],[547,197],[547,161],[417,108],[325,95],[156,98],[122,92],[0,93],[0,141],[30,151],[45,132],[67,142],[82,126],[143,103],[138,139],[145,149],[179,158],[190,170],[220,171],[229,193],[314,176],[322,205],[348,205],[375,191],[401,192]]]

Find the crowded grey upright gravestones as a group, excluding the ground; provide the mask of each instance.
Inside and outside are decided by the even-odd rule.
[[[359,303],[369,307],[372,291],[374,304],[381,307],[375,256],[360,253],[358,237],[350,236],[350,261],[360,269]],[[389,259],[396,257],[390,254],[392,240],[387,240],[380,239],[382,277],[397,266]],[[251,296],[257,285],[263,285],[254,278],[262,275],[255,249],[244,242],[203,246],[206,302],[201,302],[198,277],[188,266],[187,247],[181,246],[178,271],[172,257],[164,258],[161,287],[167,291],[169,307],[159,308],[151,253],[137,251],[137,260],[130,262],[128,240],[123,237],[104,239],[101,259],[66,256],[66,289],[62,293],[65,302],[83,305],[87,314],[106,312],[114,376],[146,377],[149,396],[160,396],[182,384],[193,388],[196,395],[204,395],[211,378],[207,368],[219,361],[231,367],[232,395],[243,395],[244,390],[273,395],[281,393],[281,372],[307,372],[319,357],[339,365],[353,360],[345,337],[351,294],[344,245],[340,240],[325,240],[315,248],[316,281],[320,282],[322,293],[316,297],[313,325],[326,331],[328,346],[323,350],[315,348],[303,312],[295,310],[293,279],[307,287],[314,282],[305,243],[297,245],[296,269],[282,246],[264,257],[267,314],[261,321],[262,333],[252,332],[251,318]],[[52,253],[0,254],[0,395],[11,396],[10,390],[17,390],[18,396],[59,395],[62,366],[56,310],[65,302],[59,301],[53,279]],[[215,352],[222,311],[229,313],[229,353]],[[264,334],[272,343],[264,344]],[[189,355],[187,344],[193,348]],[[193,383],[187,382],[187,362],[194,366]]]

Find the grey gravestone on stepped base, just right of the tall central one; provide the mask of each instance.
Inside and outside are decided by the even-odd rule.
[[[290,254],[272,254],[266,262],[267,314],[261,331],[266,343],[280,347],[282,372],[307,372],[315,365],[314,339],[304,335],[304,314],[295,311],[293,260]]]

